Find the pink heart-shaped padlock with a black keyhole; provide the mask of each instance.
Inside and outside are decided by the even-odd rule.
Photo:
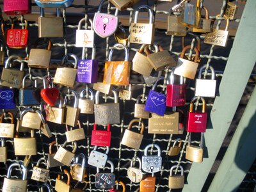
[[[115,15],[101,13],[102,5],[107,0],[101,0],[98,12],[93,17],[93,30],[101,38],[106,38],[115,33],[118,26],[118,9],[116,8]]]

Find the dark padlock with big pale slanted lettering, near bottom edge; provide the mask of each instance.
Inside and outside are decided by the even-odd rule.
[[[111,189],[115,187],[114,164],[110,160],[107,163],[111,166],[111,173],[100,173],[100,169],[97,167],[97,173],[95,174],[95,188],[97,189]]]

